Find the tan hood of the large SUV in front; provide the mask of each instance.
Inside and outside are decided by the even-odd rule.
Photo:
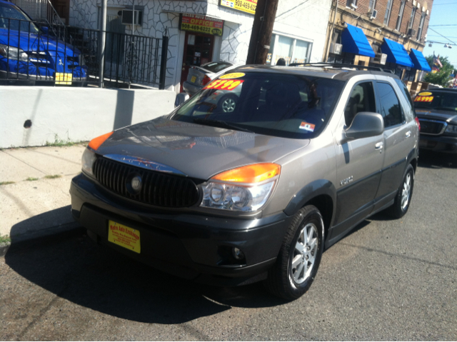
[[[96,153],[134,156],[209,179],[239,166],[274,162],[309,140],[264,136],[174,121],[162,116],[114,131]]]

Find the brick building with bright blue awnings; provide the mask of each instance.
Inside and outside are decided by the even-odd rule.
[[[421,51],[432,5],[433,0],[334,0],[323,61],[393,69],[418,90],[418,71],[428,71]]]

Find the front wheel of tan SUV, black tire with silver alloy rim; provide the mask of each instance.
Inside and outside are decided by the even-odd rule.
[[[296,246],[301,243],[300,240],[303,240],[301,232],[303,230],[311,231],[312,229],[314,231],[311,241],[313,241],[313,238],[317,238],[316,247],[306,248],[308,243],[303,241],[306,252],[299,253]],[[268,278],[264,281],[268,291],[288,301],[299,298],[308,291],[316,276],[319,263],[321,263],[323,229],[321,213],[315,206],[305,206],[296,213],[290,226],[288,226],[276,263],[268,271]],[[305,253],[307,253],[306,256]],[[309,265],[311,253],[313,253],[314,257],[312,267],[308,268],[308,272],[305,273],[304,263],[306,262]],[[293,268],[294,258],[298,263],[303,263],[303,268],[300,268],[299,264],[296,268]],[[298,269],[301,271],[298,271]],[[301,277],[300,274],[303,276]]]

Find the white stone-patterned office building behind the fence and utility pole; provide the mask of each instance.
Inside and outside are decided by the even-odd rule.
[[[246,63],[257,1],[233,1],[108,0],[106,31],[130,34],[132,25],[122,24],[121,13],[133,6],[141,11],[134,34],[161,38],[167,29],[166,89],[179,92],[190,66]],[[321,61],[331,1],[279,0],[267,64]],[[240,3],[245,6],[236,9]],[[69,24],[98,29],[100,12],[100,0],[70,0]]]

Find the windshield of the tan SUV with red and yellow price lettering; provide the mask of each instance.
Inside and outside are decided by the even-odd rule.
[[[236,72],[212,81],[173,120],[310,139],[326,126],[343,81],[299,75]]]

